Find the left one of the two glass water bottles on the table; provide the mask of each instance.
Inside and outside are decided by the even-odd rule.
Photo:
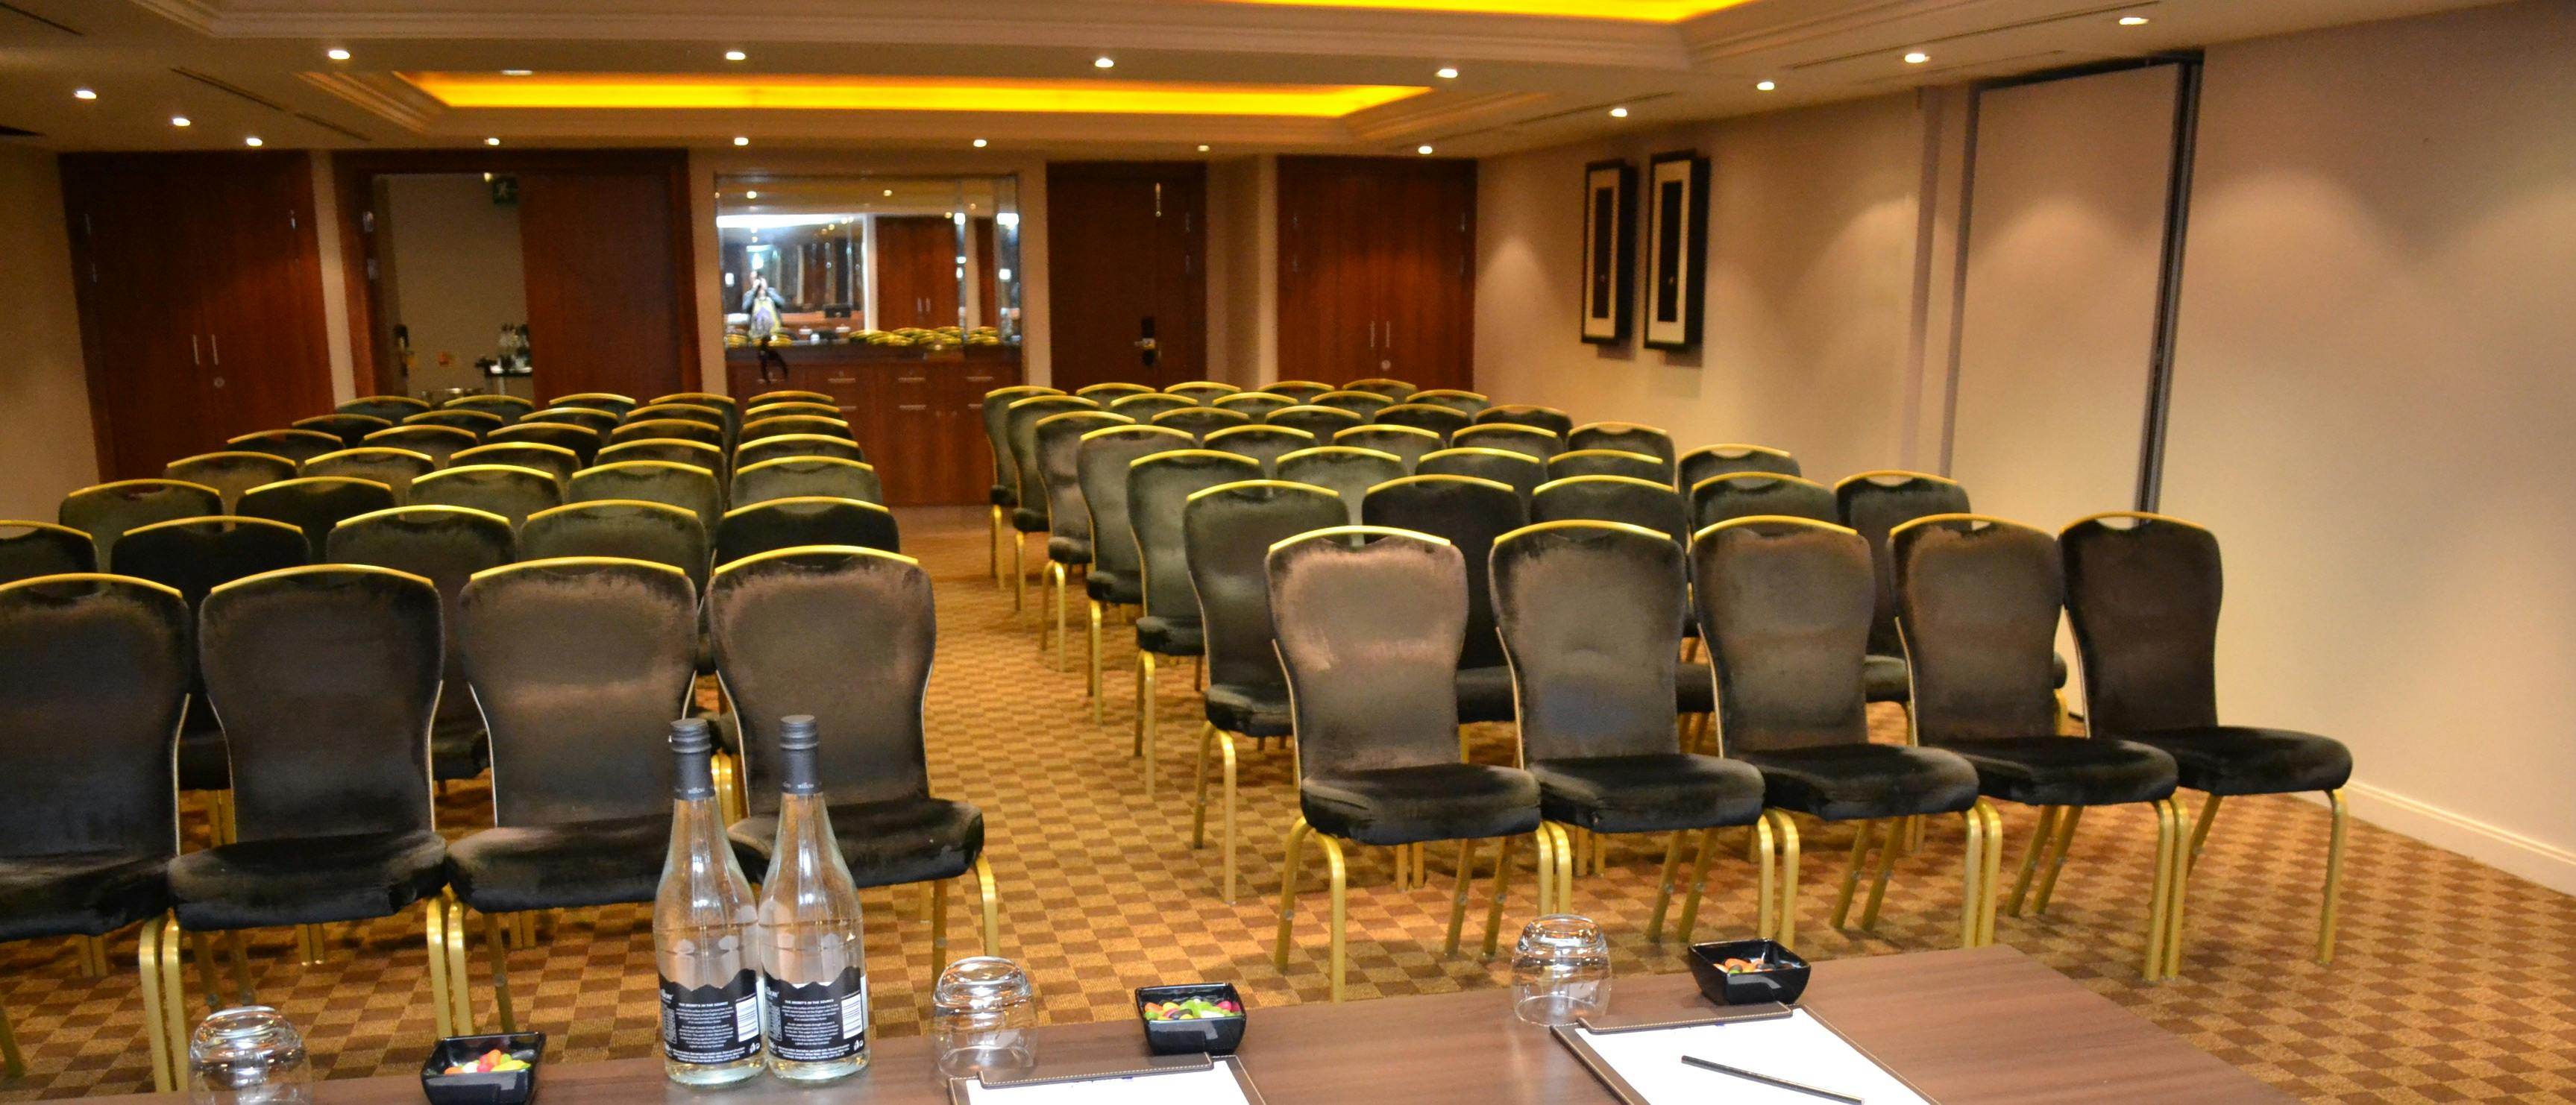
[[[752,883],[734,863],[716,811],[706,721],[670,724],[670,858],[652,899],[652,950],[662,968],[662,1072],[690,1087],[760,1074],[760,961]]]

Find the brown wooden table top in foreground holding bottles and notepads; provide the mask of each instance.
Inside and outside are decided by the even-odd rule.
[[[1350,1005],[1252,1010],[1239,1051],[1270,1105],[1615,1102],[1543,1028],[1510,1012],[1507,987]],[[2012,948],[1816,963],[1798,1002],[1942,1105],[1968,1102],[2285,1102],[2262,1082]],[[1705,1010],[1687,974],[1628,976],[1610,1010]],[[1038,1061],[1144,1056],[1133,1020],[1048,1025]],[[335,1079],[325,1105],[412,1105],[420,1077]],[[884,1041],[868,1072],[829,1087],[757,1077],[683,1090],[659,1059],[546,1064],[541,1105],[667,1100],[696,1105],[945,1105],[922,1035]],[[152,1097],[129,1097],[147,1102]]]

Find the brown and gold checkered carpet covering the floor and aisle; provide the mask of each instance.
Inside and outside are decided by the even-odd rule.
[[[1285,750],[1244,750],[1244,894],[1226,907],[1216,896],[1213,837],[1208,850],[1188,847],[1195,732],[1188,670],[1172,667],[1162,680],[1164,788],[1149,806],[1128,757],[1133,644],[1110,631],[1108,721],[1095,726],[1082,695],[1079,628],[1072,667],[1056,672],[1054,657],[1038,652],[1033,623],[1015,621],[1010,592],[984,574],[981,513],[909,510],[904,536],[938,580],[933,780],[987,814],[1005,953],[1033,971],[1046,1017],[1123,1017],[1131,987],[1193,979],[1236,981],[1252,1005],[1324,999],[1324,894],[1314,850],[1296,958],[1285,976],[1270,968],[1278,850],[1293,817]],[[1030,587],[1030,605],[1036,598]],[[1875,716],[1880,739],[1899,739],[1899,726],[1893,708]],[[1476,744],[1479,760],[1507,762],[1510,729],[1481,726]],[[2009,806],[2004,817],[2009,883],[2032,817]],[[489,793],[479,783],[461,786],[443,798],[440,824],[451,832],[489,824]],[[2154,853],[2154,822],[2143,811],[2089,814],[2050,912],[2002,917],[1996,940],[2300,1097],[2576,1100],[2576,899],[2354,824],[2342,940],[2326,968],[2308,958],[2324,837],[2326,817],[2313,804],[2231,801],[2192,878],[2190,945],[2177,981],[2138,981]],[[1826,927],[1847,840],[1850,832],[1837,829],[1806,837],[1806,956],[1955,943],[1955,827],[1932,827],[1924,850],[1899,865],[1875,932]],[[1528,855],[1522,847],[1522,863]],[[1430,886],[1396,891],[1383,853],[1352,850],[1352,999],[1507,984],[1502,961],[1440,958],[1453,858],[1455,850],[1435,850]],[[1659,860],[1659,840],[1620,840],[1607,873],[1577,881],[1577,909],[1613,932],[1618,971],[1682,968],[1674,945],[1643,938]],[[1486,886],[1481,878],[1471,899],[1468,943]],[[1512,891],[1507,938],[1530,917],[1528,871],[1515,876]],[[917,1033],[933,976],[920,896],[868,891],[866,899],[876,1023],[889,1035]],[[951,894],[956,953],[974,948],[963,899]],[[1700,935],[1747,932],[1752,917],[1752,868],[1718,858]],[[291,932],[258,932],[252,963],[260,999],[304,1028],[322,1074],[417,1069],[433,1035],[417,909],[332,927],[332,950],[319,966],[296,966]],[[0,1002],[28,1053],[28,1074],[0,1084],[0,1100],[149,1087],[131,932],[113,940],[113,966],[106,979],[82,979],[62,940],[0,948]],[[657,1007],[644,909],[556,917],[538,948],[510,953],[510,979],[523,1025],[549,1033],[556,1061],[652,1053]],[[489,971],[479,950],[474,987],[489,1025]]]

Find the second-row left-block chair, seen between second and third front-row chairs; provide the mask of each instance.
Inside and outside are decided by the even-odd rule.
[[[410,505],[358,515],[330,528],[327,556],[335,564],[371,564],[415,574],[438,587],[446,654],[443,693],[430,716],[430,778],[448,783],[482,775],[492,760],[484,721],[466,690],[464,649],[456,647],[456,603],[474,572],[518,559],[510,520],[474,507]]]

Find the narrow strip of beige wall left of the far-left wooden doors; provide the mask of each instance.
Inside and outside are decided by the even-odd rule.
[[[44,149],[0,149],[0,518],[54,520],[98,482],[80,368],[62,175]]]

